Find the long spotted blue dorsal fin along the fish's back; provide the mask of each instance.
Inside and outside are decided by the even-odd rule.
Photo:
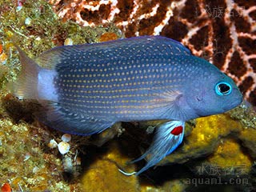
[[[180,42],[161,36],[142,36],[118,39],[110,42],[58,46],[43,52],[35,61],[39,66],[52,69],[55,66],[82,65],[95,60],[114,58],[148,58],[150,56],[190,55]],[[78,62],[80,61],[80,62]]]

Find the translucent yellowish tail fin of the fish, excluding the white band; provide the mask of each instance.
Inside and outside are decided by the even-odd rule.
[[[22,65],[21,71],[18,74],[18,78],[15,82],[10,82],[7,85],[7,89],[18,98],[38,98],[38,72],[40,66],[29,58],[26,53],[16,46],[20,62]]]

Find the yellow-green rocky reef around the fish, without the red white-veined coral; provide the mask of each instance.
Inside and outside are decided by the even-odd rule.
[[[112,22],[92,28],[60,21],[45,1],[0,3],[2,191],[255,190],[256,114],[246,103],[226,114],[187,122],[182,145],[138,177],[118,169],[133,172],[142,168],[145,161],[126,162],[146,150],[158,122],[118,123],[92,137],[64,137],[35,120],[32,114],[38,104],[19,101],[6,90],[6,83],[19,71],[13,35],[31,58],[54,46],[125,35]]]

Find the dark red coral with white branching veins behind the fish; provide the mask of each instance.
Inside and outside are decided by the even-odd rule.
[[[126,37],[161,34],[188,46],[234,78],[256,105],[256,3],[244,0],[49,1],[81,26],[114,22]]]

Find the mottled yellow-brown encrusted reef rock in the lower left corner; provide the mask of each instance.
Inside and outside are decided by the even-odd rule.
[[[10,182],[14,191],[70,190],[59,174],[61,159],[43,151],[43,138],[49,134],[46,130],[26,122],[14,123],[6,113],[1,113],[0,127],[1,186]]]

